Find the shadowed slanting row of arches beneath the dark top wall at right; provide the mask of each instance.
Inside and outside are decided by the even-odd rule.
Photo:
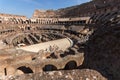
[[[108,12],[108,13],[103,13],[103,14],[96,14],[93,15],[88,24],[94,24],[94,27],[97,25],[107,25],[107,24],[111,24],[112,22],[115,23],[115,21],[117,20],[117,15],[120,14],[120,11],[112,11],[112,12]],[[102,23],[102,24],[101,24]],[[117,23],[117,22],[116,22]]]

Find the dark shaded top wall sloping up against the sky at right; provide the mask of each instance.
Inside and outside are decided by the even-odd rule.
[[[93,0],[81,5],[57,10],[60,17],[92,16],[120,9],[119,0]]]

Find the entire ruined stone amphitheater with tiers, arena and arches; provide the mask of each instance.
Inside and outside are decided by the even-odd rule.
[[[120,1],[32,18],[0,14],[0,80],[120,80]]]

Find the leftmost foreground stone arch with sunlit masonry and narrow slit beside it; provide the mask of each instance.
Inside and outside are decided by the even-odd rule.
[[[28,73],[35,73],[35,66],[31,64],[21,63],[15,65],[8,65],[4,68],[5,75],[20,75]]]

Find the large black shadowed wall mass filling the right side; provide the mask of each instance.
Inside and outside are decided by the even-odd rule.
[[[85,46],[82,68],[94,69],[108,80],[120,80],[120,25],[98,28]]]

